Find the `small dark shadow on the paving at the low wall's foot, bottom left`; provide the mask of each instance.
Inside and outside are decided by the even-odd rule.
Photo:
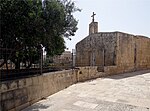
[[[37,103],[32,105],[31,107],[28,107],[22,111],[40,111],[41,109],[47,109],[48,107],[51,107],[52,105],[43,105],[41,103]]]

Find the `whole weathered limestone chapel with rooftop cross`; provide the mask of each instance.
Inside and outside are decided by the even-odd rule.
[[[150,38],[123,32],[98,32],[89,24],[89,35],[76,44],[76,66],[97,66],[114,73],[150,69]]]

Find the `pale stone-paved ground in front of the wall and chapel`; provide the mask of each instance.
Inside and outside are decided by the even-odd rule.
[[[77,83],[23,111],[150,111],[150,70]]]

